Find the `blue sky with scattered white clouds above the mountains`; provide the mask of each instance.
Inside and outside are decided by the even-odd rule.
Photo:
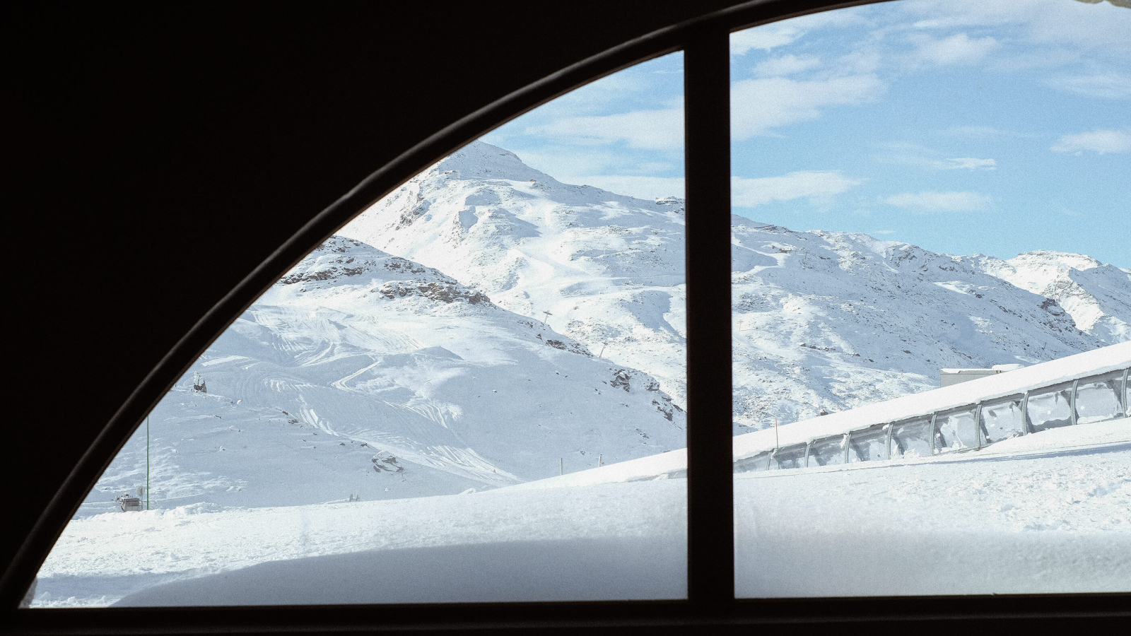
[[[1131,267],[1131,9],[856,7],[732,35],[734,212],[948,253]],[[484,139],[566,182],[682,195],[682,55]]]

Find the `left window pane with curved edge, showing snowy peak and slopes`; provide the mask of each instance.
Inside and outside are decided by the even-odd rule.
[[[536,109],[307,256],[127,441],[33,607],[683,598],[681,72]]]

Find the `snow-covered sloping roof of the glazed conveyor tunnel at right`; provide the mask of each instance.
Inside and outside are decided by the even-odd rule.
[[[780,427],[777,436],[774,429],[741,435],[734,438],[734,459],[749,458],[758,453],[817,438],[845,435],[855,429],[930,416],[940,411],[1019,395],[1128,367],[1131,367],[1131,342],[1113,344],[996,376],[802,420]]]

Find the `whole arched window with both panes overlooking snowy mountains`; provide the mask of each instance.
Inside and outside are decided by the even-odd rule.
[[[31,604],[1128,592],[1131,12],[1022,5],[754,3],[426,140],[150,383]]]

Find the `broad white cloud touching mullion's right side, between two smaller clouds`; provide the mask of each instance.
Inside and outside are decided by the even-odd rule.
[[[731,84],[731,136],[746,139],[770,128],[817,119],[821,108],[875,101],[887,86],[874,75],[798,81],[785,77]]]

